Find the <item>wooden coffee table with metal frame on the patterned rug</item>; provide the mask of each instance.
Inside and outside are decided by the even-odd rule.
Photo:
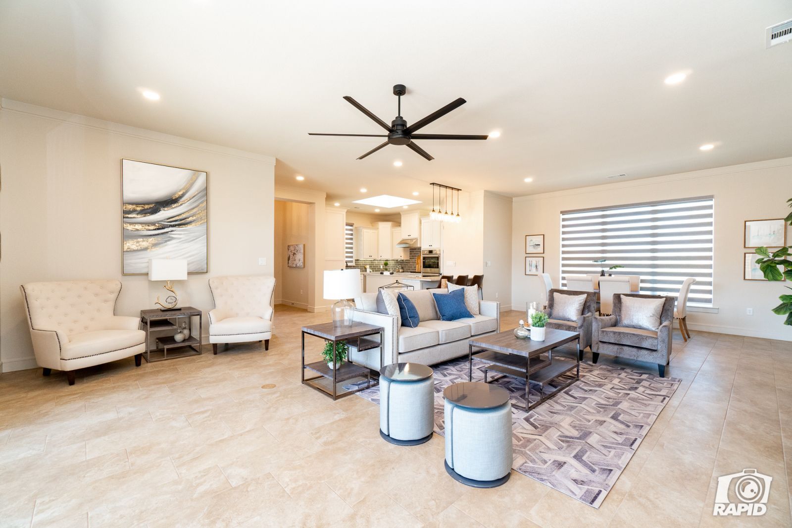
[[[468,341],[468,381],[473,381],[473,360],[478,359],[489,363],[484,370],[485,383],[492,383],[492,381],[487,381],[487,373],[490,370],[525,380],[526,407],[524,410],[529,411],[549,400],[558,392],[581,379],[581,335],[578,332],[555,330],[554,328],[547,328],[545,332],[544,341],[517,339],[511,330],[470,339]],[[577,342],[575,361],[553,356],[553,349],[573,341]],[[480,350],[479,353],[474,355],[474,349]],[[572,380],[544,395],[545,385],[573,369],[576,372]],[[530,400],[531,383],[539,384],[541,388],[539,393],[542,394],[539,400],[532,404]],[[520,408],[518,405],[515,407]]]

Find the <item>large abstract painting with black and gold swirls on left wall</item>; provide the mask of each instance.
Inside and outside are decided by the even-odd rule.
[[[121,160],[124,275],[148,273],[150,258],[185,258],[191,274],[208,272],[208,174]]]

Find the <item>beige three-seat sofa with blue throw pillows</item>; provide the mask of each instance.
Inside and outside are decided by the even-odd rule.
[[[487,335],[499,331],[501,327],[501,303],[490,300],[477,300],[477,316],[441,321],[432,293],[447,293],[446,289],[422,289],[403,291],[413,301],[421,322],[415,328],[402,327],[401,317],[377,312],[377,294],[364,293],[356,298],[355,320],[361,323],[383,327],[383,362],[421,363],[434,365],[450,359],[466,356],[467,342],[474,335]],[[376,338],[379,339],[379,336]],[[358,365],[379,370],[379,350],[359,351],[349,342],[349,358]]]

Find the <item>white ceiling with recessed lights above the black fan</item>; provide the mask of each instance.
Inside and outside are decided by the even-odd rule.
[[[0,0],[0,95],[274,155],[279,184],[343,205],[429,182],[519,196],[792,155],[792,44],[764,46],[789,18],[788,0]],[[390,122],[395,83],[409,122],[466,98],[421,132],[502,136],[417,142],[432,162],[307,136],[383,132],[341,97]]]

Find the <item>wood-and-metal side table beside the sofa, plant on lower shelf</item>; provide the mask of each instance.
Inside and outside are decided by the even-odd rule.
[[[355,365],[354,363],[347,361],[342,363],[340,366],[337,366],[335,369],[331,369],[326,362],[314,362],[305,363],[305,336],[313,335],[320,339],[324,339],[325,341],[329,341],[333,343],[333,361],[335,360],[335,350],[336,350],[336,342],[339,341],[357,341],[357,350],[371,350],[374,348],[379,347],[379,364],[383,364],[383,349],[382,349],[382,342],[383,342],[383,327],[375,327],[372,324],[367,323],[352,323],[351,326],[348,327],[337,327],[333,325],[333,323],[322,323],[322,324],[314,324],[310,327],[303,327],[303,367],[300,369],[300,379],[303,382],[303,385],[308,385],[311,388],[318,390],[319,392],[325,393],[327,396],[333,398],[333,400],[337,400],[338,398],[343,398],[345,396],[349,396],[350,394],[354,394],[355,392],[364,390],[364,388],[369,388],[371,386],[371,369],[367,367]],[[377,335],[379,334],[379,342],[376,342],[373,339],[365,339],[367,336],[370,335]],[[306,379],[305,377],[305,369],[313,370],[315,373],[318,373],[318,376],[311,377]],[[358,388],[354,391],[347,391],[341,394],[337,393],[337,384],[341,381],[351,380],[356,377],[366,377],[368,383],[365,387]],[[321,381],[325,381],[324,384]],[[332,388],[326,387],[327,381],[333,384]]]

